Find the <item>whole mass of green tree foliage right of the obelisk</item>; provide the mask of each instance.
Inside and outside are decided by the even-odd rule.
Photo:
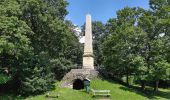
[[[168,0],[149,4],[150,10],[125,7],[106,23],[103,64],[114,77],[126,75],[128,81],[134,75],[158,87],[160,79],[169,80],[170,9]]]

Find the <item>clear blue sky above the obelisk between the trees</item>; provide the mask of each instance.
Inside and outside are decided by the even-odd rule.
[[[148,0],[67,0],[69,14],[66,19],[81,26],[85,22],[85,15],[90,13],[93,21],[106,23],[109,18],[116,17],[116,11],[129,7],[149,8]]]

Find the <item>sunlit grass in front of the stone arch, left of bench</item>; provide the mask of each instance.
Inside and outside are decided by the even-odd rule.
[[[58,84],[56,84],[58,86]],[[49,93],[49,97],[46,95]],[[59,94],[59,98],[57,95]],[[70,88],[59,88],[57,87],[55,90],[46,92],[43,95],[39,96],[31,96],[26,100],[93,100],[89,94],[87,94],[84,90],[73,90]]]

